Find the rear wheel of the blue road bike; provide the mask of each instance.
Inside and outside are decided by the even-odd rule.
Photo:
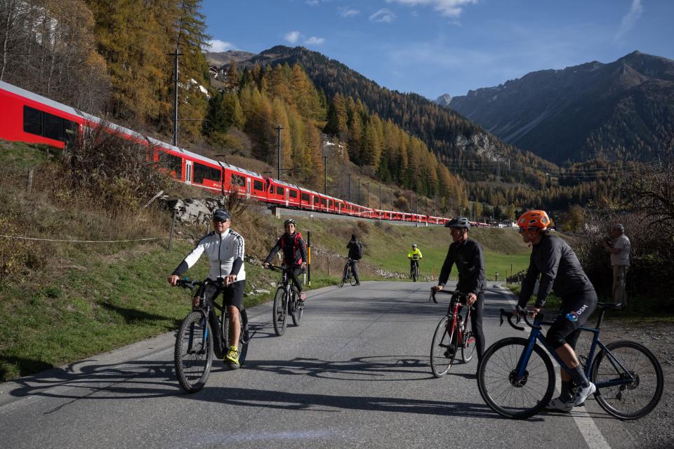
[[[658,359],[636,342],[621,340],[606,347],[610,354],[602,349],[590,370],[590,380],[597,385],[597,402],[607,413],[621,420],[636,420],[648,415],[658,405],[664,385]],[[634,377],[631,382],[601,386],[605,382],[631,377]]]

